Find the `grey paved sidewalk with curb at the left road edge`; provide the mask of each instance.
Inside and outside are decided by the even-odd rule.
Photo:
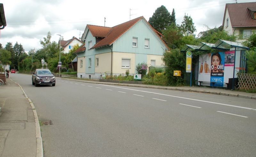
[[[0,156],[43,157],[34,105],[19,84],[6,82],[0,86]]]

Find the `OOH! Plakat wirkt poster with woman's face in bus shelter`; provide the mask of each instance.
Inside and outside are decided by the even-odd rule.
[[[212,53],[211,82],[216,87],[223,87],[224,83],[225,52]],[[212,86],[212,83],[210,84]]]

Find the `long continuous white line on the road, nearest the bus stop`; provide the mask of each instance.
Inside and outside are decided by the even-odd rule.
[[[225,104],[225,103],[215,103],[215,102],[211,102],[211,101],[204,101],[204,100],[192,99],[192,98],[181,97],[181,96],[172,96],[172,95],[167,95],[167,94],[160,94],[160,93],[155,93],[155,92],[148,92],[148,91],[144,91],[144,90],[137,90],[137,89],[129,89],[129,88],[116,87],[116,86],[109,86],[109,85],[105,85],[105,84],[99,84],[99,85],[108,86],[108,87],[114,87],[114,88],[121,88],[121,89],[134,90],[134,91],[140,91],[140,92],[151,93],[151,94],[158,94],[158,95],[162,95],[162,96],[177,97],[177,98],[181,98],[181,99],[188,99],[188,100],[200,101],[200,102],[204,102],[204,103],[214,103],[214,104],[218,104],[218,105],[224,105],[224,106],[230,106],[230,107],[237,107],[237,108],[241,108],[241,109],[253,110],[253,108],[242,107],[242,106],[236,106],[236,105],[229,105],[229,104]]]

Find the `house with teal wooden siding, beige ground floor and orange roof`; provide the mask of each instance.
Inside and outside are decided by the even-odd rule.
[[[163,66],[163,53],[168,46],[142,16],[114,27],[86,25],[76,50],[77,77],[99,79],[100,73],[110,75],[136,74],[138,63]]]

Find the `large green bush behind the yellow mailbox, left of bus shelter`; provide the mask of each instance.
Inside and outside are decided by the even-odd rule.
[[[181,53],[180,49],[165,51],[162,60],[165,65],[167,84],[170,86],[184,85],[184,73],[186,73],[184,68],[186,65],[186,57],[184,53]],[[180,70],[181,77],[173,76],[174,70]]]

